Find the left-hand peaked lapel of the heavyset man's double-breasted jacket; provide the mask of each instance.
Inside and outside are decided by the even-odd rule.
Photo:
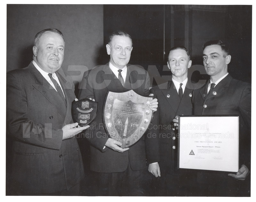
[[[35,83],[32,85],[42,93],[42,95],[52,104],[54,105],[58,112],[60,112],[60,115],[65,118],[66,115],[66,106],[63,100],[61,100],[61,97],[58,96],[58,92],[52,86],[44,76],[41,75],[41,73],[35,68],[33,63],[30,63],[28,66],[31,74],[35,78]],[[40,107],[40,106],[38,106]]]

